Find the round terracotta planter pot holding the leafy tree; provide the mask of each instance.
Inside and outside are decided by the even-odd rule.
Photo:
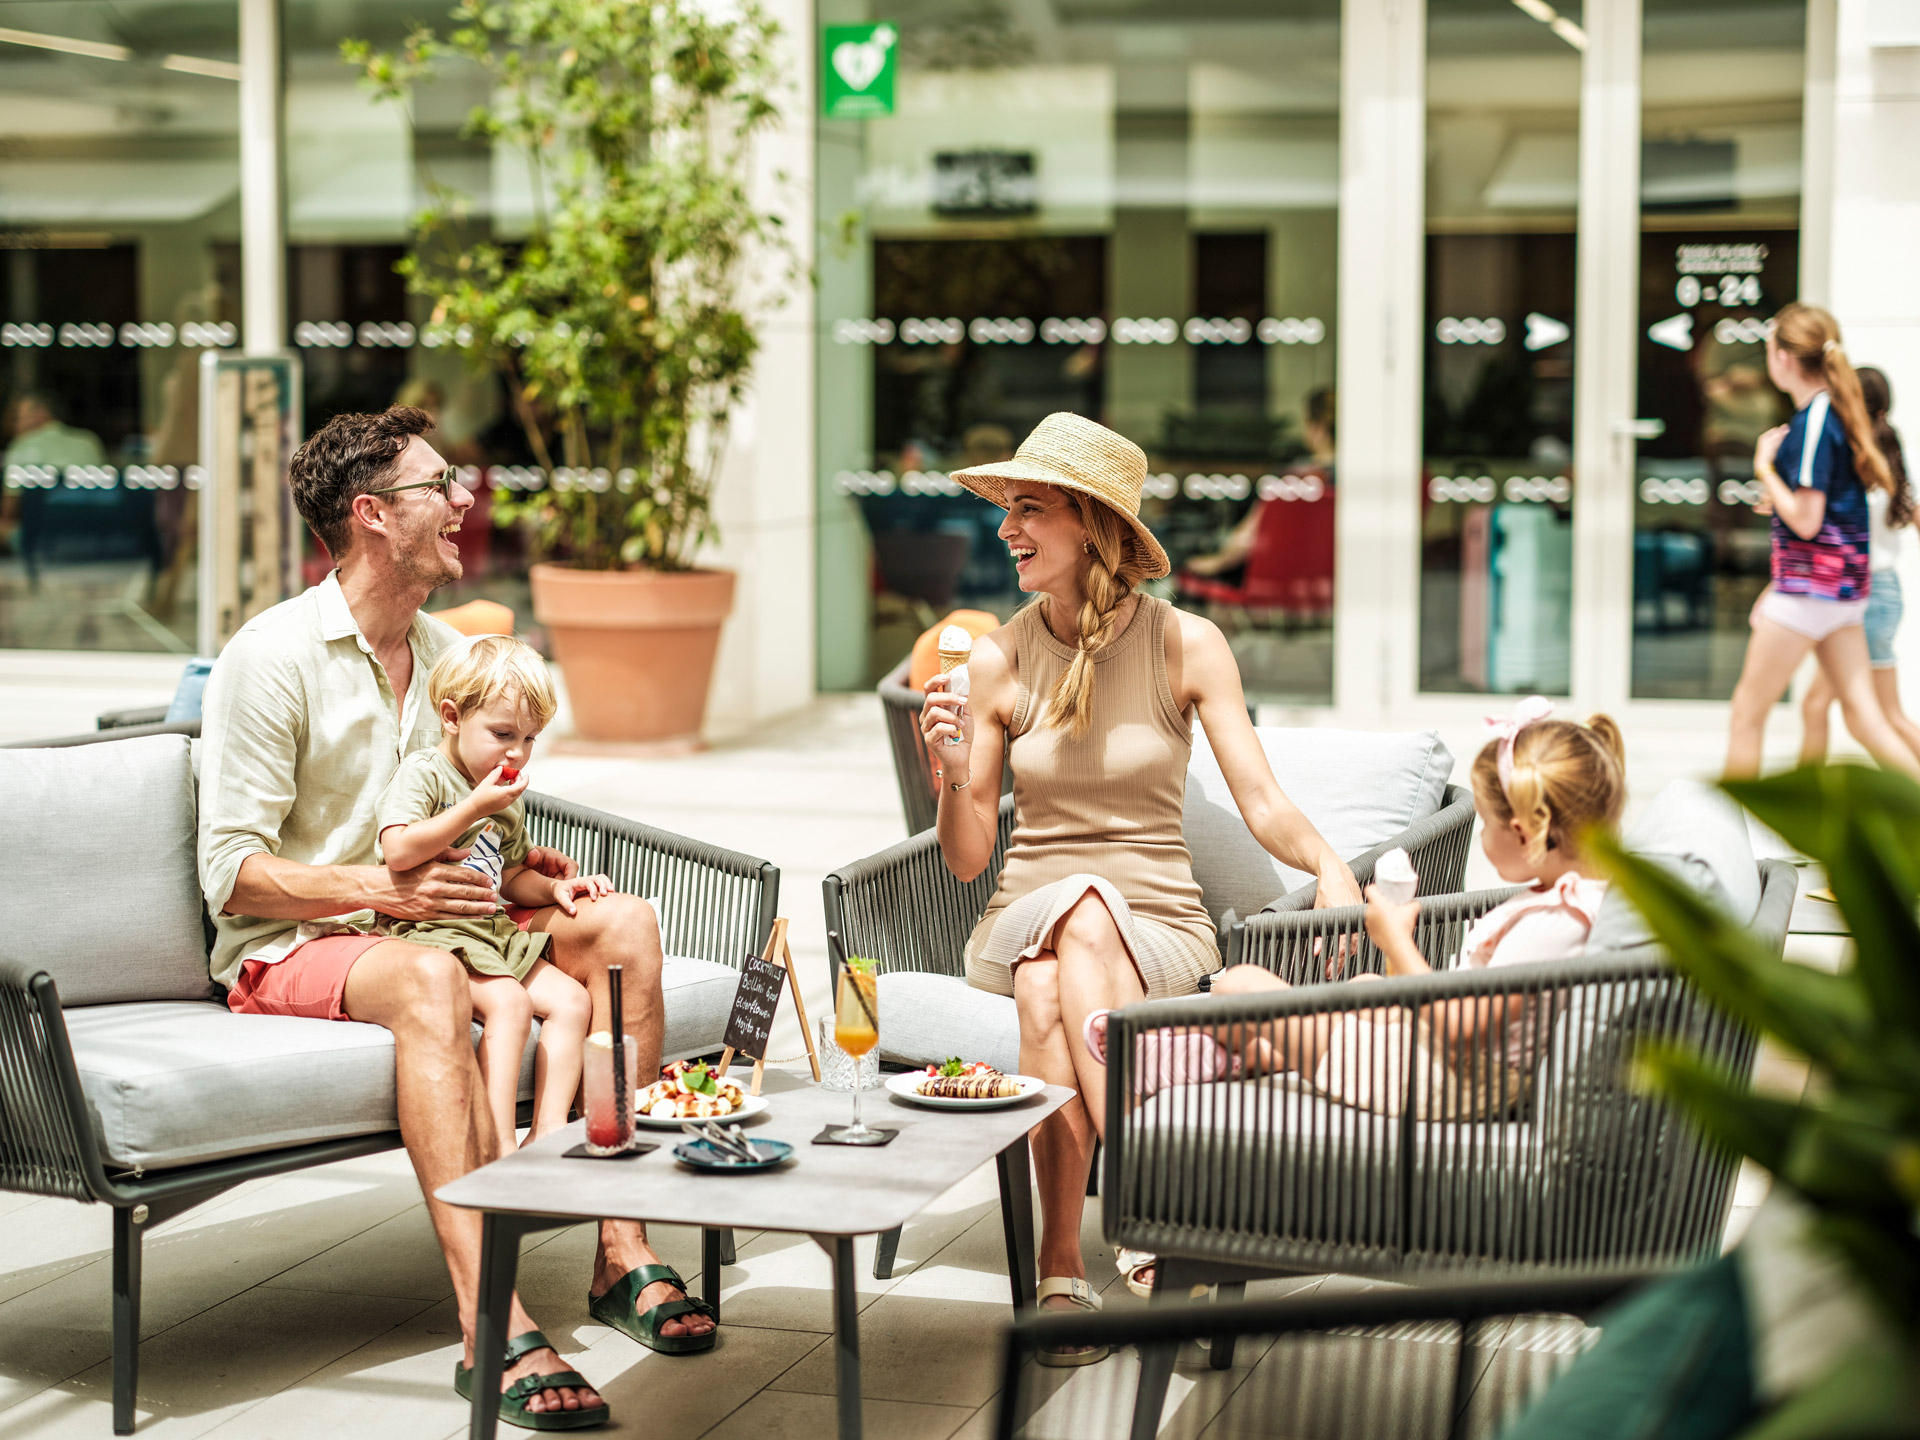
[[[699,739],[732,570],[536,564],[530,580],[584,739]]]

